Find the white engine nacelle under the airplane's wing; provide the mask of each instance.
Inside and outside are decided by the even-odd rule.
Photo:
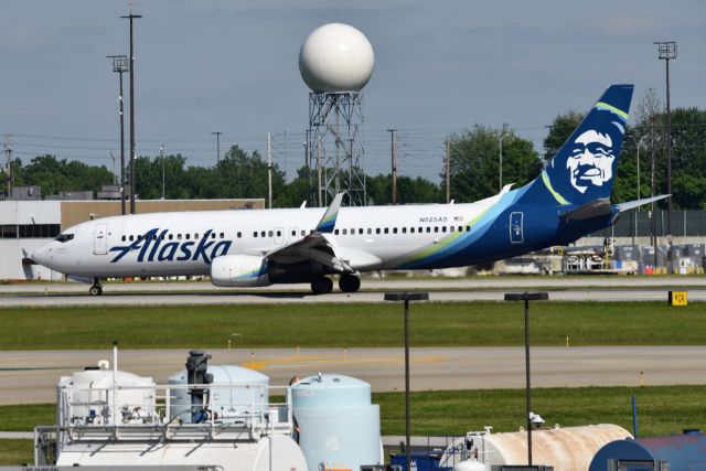
[[[220,287],[269,286],[269,269],[257,255],[224,255],[211,261],[211,282]]]

